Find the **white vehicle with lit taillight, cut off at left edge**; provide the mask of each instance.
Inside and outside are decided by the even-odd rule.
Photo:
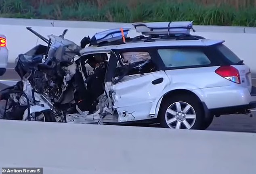
[[[0,34],[0,76],[6,72],[8,62],[8,49],[5,35]]]

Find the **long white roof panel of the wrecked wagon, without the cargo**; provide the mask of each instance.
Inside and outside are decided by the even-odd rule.
[[[163,47],[163,46],[210,46],[218,43],[223,43],[225,40],[213,40],[213,39],[198,39],[198,40],[158,40],[152,42],[134,41],[120,45],[105,45],[98,46],[92,45],[85,47],[80,51],[81,55],[90,53],[105,53],[113,49],[130,49],[130,48],[145,48],[145,47]]]

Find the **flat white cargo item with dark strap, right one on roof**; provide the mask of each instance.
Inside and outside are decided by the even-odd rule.
[[[132,23],[132,25],[138,33],[143,35],[168,35],[168,31],[170,35],[189,35],[190,30],[193,29],[193,21]]]

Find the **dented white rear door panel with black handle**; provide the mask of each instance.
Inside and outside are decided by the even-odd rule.
[[[117,109],[119,115],[130,115],[132,120],[147,119],[159,94],[169,85],[170,81],[164,71],[119,82],[111,86],[115,101],[113,108]],[[120,121],[132,120],[126,120],[124,117],[120,119]]]

